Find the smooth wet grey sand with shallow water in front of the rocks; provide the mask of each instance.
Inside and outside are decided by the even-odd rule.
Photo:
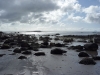
[[[69,45],[84,45],[84,43],[73,42]],[[0,53],[6,54],[0,57],[0,75],[100,75],[100,61],[96,61],[96,65],[82,65],[78,63],[82,59],[78,57],[79,52],[68,50],[66,47],[61,48],[67,53],[52,55],[50,48],[40,48],[39,51],[45,52],[46,56],[34,56],[33,51],[33,54],[27,56],[28,59],[25,60],[17,59],[21,54],[9,55],[11,51],[0,50]]]

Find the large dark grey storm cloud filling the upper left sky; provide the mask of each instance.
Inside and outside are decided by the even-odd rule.
[[[0,20],[13,22],[19,21],[23,16],[30,12],[42,13],[45,11],[53,11],[59,7],[51,0],[0,0]],[[34,15],[37,18],[41,16]]]

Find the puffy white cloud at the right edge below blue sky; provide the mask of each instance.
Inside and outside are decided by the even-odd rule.
[[[83,9],[86,13],[84,21],[88,23],[100,23],[100,6],[89,6]]]

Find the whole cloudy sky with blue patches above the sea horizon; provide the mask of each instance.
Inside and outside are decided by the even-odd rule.
[[[100,31],[100,0],[0,0],[0,31]]]

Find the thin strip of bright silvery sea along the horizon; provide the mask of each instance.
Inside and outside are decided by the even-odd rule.
[[[42,31],[42,32],[20,32],[26,35],[100,35],[100,32],[79,32],[79,31]]]

